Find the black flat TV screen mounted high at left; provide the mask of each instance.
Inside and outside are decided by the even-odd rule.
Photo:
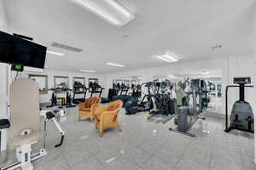
[[[0,31],[0,62],[44,69],[47,48]]]

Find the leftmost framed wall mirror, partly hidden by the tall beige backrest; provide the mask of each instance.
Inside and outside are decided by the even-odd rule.
[[[38,82],[39,93],[47,94],[48,93],[48,76],[47,75],[28,75],[33,81]]]

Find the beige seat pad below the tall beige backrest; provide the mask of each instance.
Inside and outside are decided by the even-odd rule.
[[[23,144],[31,144],[33,142],[37,142],[38,139],[44,137],[46,133],[44,131],[36,131],[31,135],[26,136],[15,136],[9,140],[9,149],[14,150],[15,148],[20,147]]]

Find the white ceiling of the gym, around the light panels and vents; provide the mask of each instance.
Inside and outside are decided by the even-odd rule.
[[[168,65],[153,57],[167,50],[181,61],[252,54],[254,0],[122,0],[136,19],[121,28],[69,0],[5,0],[11,32],[34,37],[50,50],[49,69],[97,72]],[[124,38],[128,35],[129,38]],[[51,48],[52,42],[82,48],[82,54]],[[223,48],[212,50],[221,44]],[[115,68],[113,62],[126,65]]]

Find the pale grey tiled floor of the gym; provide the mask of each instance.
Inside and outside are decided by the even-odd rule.
[[[148,122],[146,113],[126,116],[121,111],[123,132],[109,129],[99,137],[95,124],[79,122],[76,109],[67,110],[61,126],[67,132],[64,144],[55,149],[59,134],[48,123],[48,156],[34,162],[36,170],[250,170],[253,164],[253,134],[224,133],[224,120],[207,117],[198,121],[195,138],[173,133],[166,124]],[[206,133],[208,132],[208,133]],[[42,143],[42,142],[41,142]],[[36,148],[42,147],[38,144]],[[34,149],[36,149],[34,148]],[[9,158],[12,154],[9,154]]]

